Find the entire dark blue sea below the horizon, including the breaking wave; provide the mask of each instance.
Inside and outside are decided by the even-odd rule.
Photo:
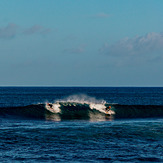
[[[163,87],[0,87],[0,162],[163,162]]]

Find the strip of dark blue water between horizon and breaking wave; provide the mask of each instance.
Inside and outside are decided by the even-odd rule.
[[[80,94],[109,103],[163,105],[163,87],[0,87],[0,107],[54,102]]]

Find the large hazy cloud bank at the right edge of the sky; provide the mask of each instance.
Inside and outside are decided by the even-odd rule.
[[[144,36],[126,37],[112,45],[105,43],[99,51],[112,58],[123,58],[118,61],[120,63],[127,60],[132,63],[133,60],[135,63],[151,60],[156,62],[163,59],[163,34],[152,32]]]

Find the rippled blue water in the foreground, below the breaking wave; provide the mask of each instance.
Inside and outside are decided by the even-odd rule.
[[[1,119],[0,161],[163,161],[161,119],[36,121]]]

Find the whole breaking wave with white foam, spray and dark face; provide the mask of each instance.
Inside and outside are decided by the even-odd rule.
[[[54,103],[2,107],[0,115],[54,121],[67,119],[104,121],[119,118],[163,117],[163,106],[109,104],[104,100],[97,100],[86,95],[74,95],[63,100],[56,100]]]

